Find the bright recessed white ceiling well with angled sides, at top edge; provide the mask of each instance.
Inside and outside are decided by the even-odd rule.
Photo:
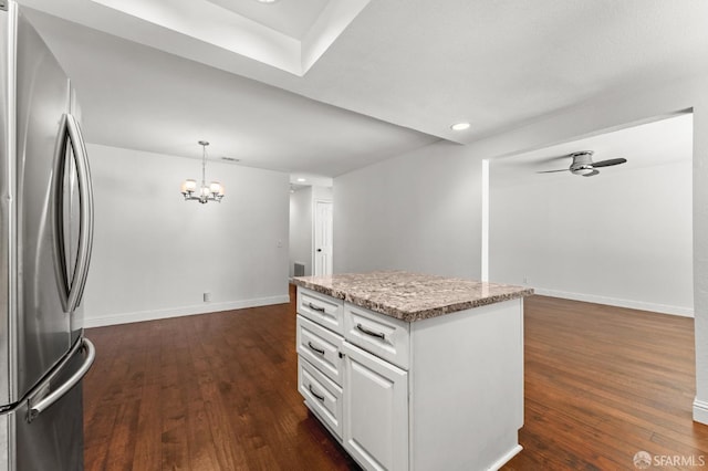
[[[302,76],[371,0],[20,1],[186,57],[199,60],[211,55],[209,49],[225,50]]]

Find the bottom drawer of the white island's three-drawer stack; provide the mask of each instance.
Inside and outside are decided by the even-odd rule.
[[[298,356],[298,390],[308,407],[342,440],[342,388]]]

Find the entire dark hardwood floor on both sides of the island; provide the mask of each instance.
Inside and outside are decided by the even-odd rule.
[[[632,470],[641,450],[708,468],[693,320],[533,296],[524,322],[524,450],[506,469]],[[356,469],[298,394],[294,302],[86,334],[86,470]]]

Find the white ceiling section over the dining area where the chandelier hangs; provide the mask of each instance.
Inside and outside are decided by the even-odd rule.
[[[281,0],[283,1],[283,0]],[[73,77],[86,139],[295,174],[336,176],[435,138],[44,14]]]

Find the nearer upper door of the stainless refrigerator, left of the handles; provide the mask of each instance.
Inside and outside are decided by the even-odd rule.
[[[10,402],[23,397],[71,346],[70,311],[56,276],[61,233],[54,220],[54,175],[64,160],[58,148],[64,146],[69,80],[22,14],[17,15],[15,83],[18,305]]]

